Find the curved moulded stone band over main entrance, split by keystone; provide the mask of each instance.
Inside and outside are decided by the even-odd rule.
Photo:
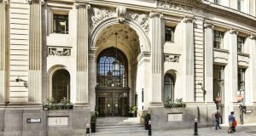
[[[117,24],[119,24],[119,21],[116,20],[116,17],[111,17],[106,20],[103,20],[97,26],[95,26],[92,32],[90,33],[90,48],[96,48],[96,40],[101,36],[101,32],[105,28]],[[139,26],[137,22],[129,19],[124,20],[123,24],[126,26],[130,26],[134,31],[137,32],[140,41],[141,52],[150,52],[150,42],[146,33],[143,31],[143,28]]]

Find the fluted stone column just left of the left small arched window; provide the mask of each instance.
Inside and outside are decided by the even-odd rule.
[[[30,3],[28,102],[42,102],[42,5],[44,0]]]

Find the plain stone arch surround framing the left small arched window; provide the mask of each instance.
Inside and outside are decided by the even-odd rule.
[[[55,71],[58,71],[58,70],[66,70],[69,75],[70,75],[70,79],[71,79],[71,72],[67,69],[67,66],[65,65],[53,65],[49,68],[48,70],[48,74],[47,74],[47,98],[50,98],[52,97],[52,77],[55,73]],[[70,86],[71,86],[71,81],[70,81]],[[69,90],[70,91],[70,90]],[[71,91],[70,91],[71,93]]]

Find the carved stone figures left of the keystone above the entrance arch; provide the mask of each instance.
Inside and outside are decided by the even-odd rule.
[[[96,26],[101,20],[114,16],[113,10],[107,8],[91,8],[90,28]]]

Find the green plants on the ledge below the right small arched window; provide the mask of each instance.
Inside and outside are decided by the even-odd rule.
[[[171,98],[167,98],[164,106],[165,108],[185,108],[186,104],[183,102],[183,99],[175,99],[175,101],[172,102]]]

